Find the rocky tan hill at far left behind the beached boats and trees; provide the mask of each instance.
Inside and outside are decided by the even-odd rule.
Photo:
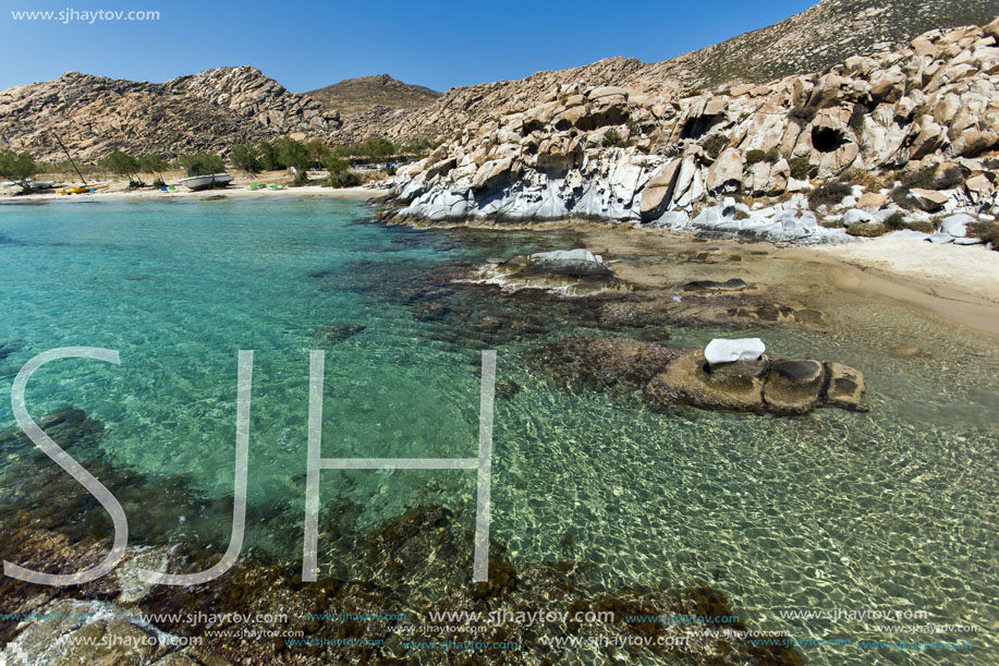
[[[75,156],[93,161],[118,149],[173,157],[224,153],[233,143],[285,134],[330,140],[339,126],[338,113],[251,66],[166,83],[69,72],[0,93],[0,135],[41,160],[65,158],[52,132]]]

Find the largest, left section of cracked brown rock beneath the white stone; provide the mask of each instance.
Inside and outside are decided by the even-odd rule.
[[[763,385],[770,361],[736,361],[707,372],[703,349],[684,351],[645,387],[645,401],[657,409],[691,404],[738,412],[764,410]]]

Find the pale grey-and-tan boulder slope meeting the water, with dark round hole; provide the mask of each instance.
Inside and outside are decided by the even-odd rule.
[[[730,217],[793,218],[808,230],[791,234],[801,237],[824,227],[842,235],[836,214],[850,209],[865,221],[897,210],[916,221],[988,215],[999,203],[999,159],[987,155],[999,145],[997,37],[999,20],[937,29],[825,72],[687,97],[563,84],[401,170],[389,217],[675,227],[733,196],[757,201],[745,211],[728,206]],[[846,189],[816,193],[827,182]],[[831,219],[785,213],[809,207]]]

